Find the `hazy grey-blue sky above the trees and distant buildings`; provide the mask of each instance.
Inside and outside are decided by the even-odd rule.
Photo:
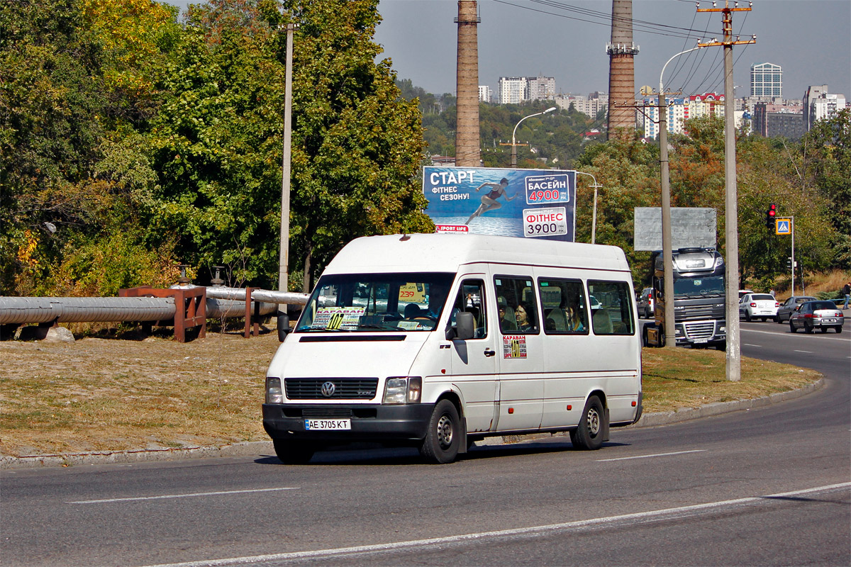
[[[494,96],[500,77],[537,75],[555,77],[557,92],[608,91],[611,0],[479,0],[478,7],[478,82],[494,88]],[[711,8],[711,1],[700,8]],[[375,41],[398,77],[434,94],[454,94],[457,0],[380,0],[379,10],[384,21]],[[632,13],[640,48],[636,90],[658,88],[672,55],[699,39],[722,37],[722,14],[699,14],[691,0],[633,0]],[[733,13],[733,29],[743,40],[757,35],[757,43],[734,47],[734,80],[741,85],[736,96],[750,94],[751,65],[768,62],[783,68],[786,99],[822,84],[851,98],[851,0],[754,0],[750,12]],[[703,48],[672,61],[665,87],[723,92],[722,51]]]

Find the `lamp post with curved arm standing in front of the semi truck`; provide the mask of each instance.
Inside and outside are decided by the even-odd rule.
[[[665,288],[662,297],[665,298],[665,347],[673,349],[677,346],[674,333],[674,268],[671,252],[671,173],[668,169],[668,105],[665,103],[665,86],[662,77],[668,63],[680,55],[690,53],[700,47],[686,49],[671,57],[662,66],[659,75],[659,162],[662,170],[662,265],[665,268]]]

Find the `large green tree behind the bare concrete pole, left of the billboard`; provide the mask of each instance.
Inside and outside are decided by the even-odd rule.
[[[375,62],[377,2],[217,0],[191,10],[153,121],[152,235],[187,263],[277,284],[283,24],[294,38],[290,273],[303,285],[361,235],[433,230],[417,172],[420,113]],[[293,268],[296,269],[293,269]],[[292,282],[292,279],[291,279]]]

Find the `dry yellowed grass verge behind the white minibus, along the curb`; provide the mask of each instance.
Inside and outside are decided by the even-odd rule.
[[[83,338],[0,342],[0,454],[226,445],[266,439],[260,405],[277,333],[210,333],[191,343]],[[799,388],[814,371],[724,353],[644,349],[645,411],[670,411]]]

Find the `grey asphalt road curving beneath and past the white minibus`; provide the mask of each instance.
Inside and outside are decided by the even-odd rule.
[[[0,473],[4,565],[851,564],[851,332],[742,323],[746,356],[825,373],[751,411],[415,451]],[[846,331],[848,329],[846,328]]]

